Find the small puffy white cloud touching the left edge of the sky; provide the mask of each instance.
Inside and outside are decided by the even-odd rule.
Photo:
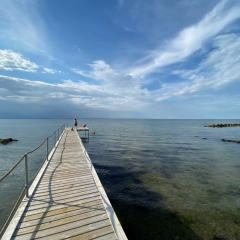
[[[20,53],[0,49],[0,70],[36,72],[37,69],[36,63],[24,58]]]

